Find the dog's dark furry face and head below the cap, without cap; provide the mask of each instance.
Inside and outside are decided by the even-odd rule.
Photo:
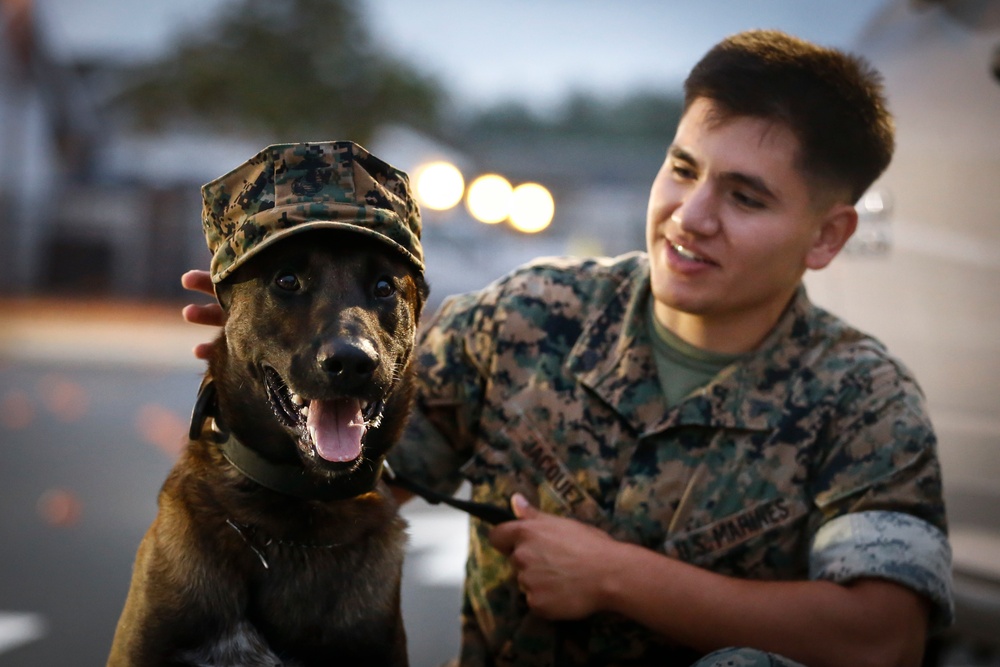
[[[228,311],[210,363],[227,425],[321,480],[378,470],[410,401],[427,295],[379,241],[314,231],[274,244],[217,286]]]

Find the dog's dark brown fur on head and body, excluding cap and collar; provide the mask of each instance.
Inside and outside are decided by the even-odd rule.
[[[228,320],[208,371],[218,421],[264,459],[350,497],[251,481],[206,420],[164,483],[108,664],[405,665],[405,524],[384,484],[368,491],[365,480],[409,408],[422,277],[380,241],[310,230],[250,258],[219,298]],[[313,445],[298,397],[327,419],[353,414],[333,401],[372,406],[366,419],[384,407],[361,454],[338,462]]]

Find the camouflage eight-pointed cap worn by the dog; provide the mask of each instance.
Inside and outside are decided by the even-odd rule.
[[[212,282],[272,243],[310,229],[365,234],[424,269],[409,178],[353,142],[269,146],[201,193]]]

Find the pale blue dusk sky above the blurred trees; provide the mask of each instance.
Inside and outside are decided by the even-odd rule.
[[[36,0],[59,54],[148,57],[231,0]],[[891,0],[363,0],[373,37],[462,104],[676,87],[722,37],[779,28],[850,47]]]

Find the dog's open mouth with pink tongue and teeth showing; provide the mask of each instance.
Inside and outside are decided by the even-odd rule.
[[[331,463],[350,463],[361,456],[365,434],[382,420],[382,400],[306,400],[270,366],[264,367],[264,384],[278,420],[296,433],[307,451]]]

